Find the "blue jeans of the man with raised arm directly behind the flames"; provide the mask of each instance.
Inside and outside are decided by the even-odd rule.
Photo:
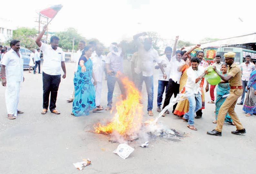
[[[141,74],[135,73],[135,85],[140,92],[142,90],[143,81],[146,84],[146,90],[148,93],[148,109],[147,110],[152,110],[153,109],[153,97],[154,97],[153,75],[146,77],[146,76],[143,76],[142,73]]]

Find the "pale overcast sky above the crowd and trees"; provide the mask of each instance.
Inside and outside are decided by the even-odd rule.
[[[179,35],[193,43],[206,37],[224,39],[256,32],[255,0],[15,0],[1,7],[0,17],[12,20],[17,27],[35,27],[36,11],[56,4],[63,8],[51,22],[50,31],[74,27],[84,37],[97,38],[106,46],[131,40],[142,31],[156,31],[166,40]]]

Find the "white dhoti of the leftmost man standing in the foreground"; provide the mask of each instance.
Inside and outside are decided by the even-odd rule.
[[[5,102],[7,114],[17,116],[20,94],[20,82],[7,82],[5,90]]]

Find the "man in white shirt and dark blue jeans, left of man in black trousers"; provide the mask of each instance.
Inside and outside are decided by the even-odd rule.
[[[155,65],[155,69],[159,69],[159,77],[158,77],[158,90],[157,90],[157,112],[161,112],[161,105],[162,105],[162,97],[163,97],[163,92],[165,89],[165,92],[167,91],[167,85],[169,82],[169,75],[171,71],[171,59],[172,59],[172,48],[171,47],[166,47],[164,49],[164,55],[160,57],[161,63],[163,65],[164,71],[167,74],[167,78],[163,78],[162,71],[159,69],[158,65]]]

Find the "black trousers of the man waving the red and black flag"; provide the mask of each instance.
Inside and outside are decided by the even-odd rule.
[[[50,99],[50,111],[56,108],[56,100],[58,89],[61,81],[61,75],[49,75],[43,72],[43,108],[48,109],[49,95]]]

